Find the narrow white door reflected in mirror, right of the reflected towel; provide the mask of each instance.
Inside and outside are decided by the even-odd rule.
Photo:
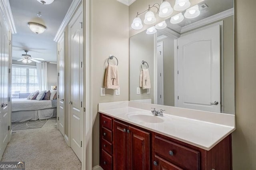
[[[164,105],[164,54],[163,54],[163,42],[157,43],[157,104]]]

